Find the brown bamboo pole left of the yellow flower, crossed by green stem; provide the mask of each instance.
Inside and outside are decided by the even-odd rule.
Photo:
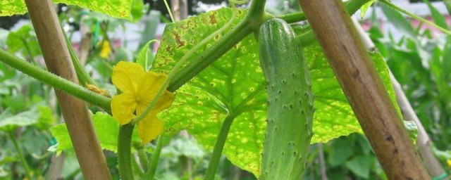
[[[25,4],[49,71],[78,83],[51,1],[25,0]],[[63,91],[55,91],[83,176],[85,179],[111,179],[86,103]]]

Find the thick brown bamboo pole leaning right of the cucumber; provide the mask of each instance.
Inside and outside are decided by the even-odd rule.
[[[298,0],[388,179],[431,179],[340,0]]]

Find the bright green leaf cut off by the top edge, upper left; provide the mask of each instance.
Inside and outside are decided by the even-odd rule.
[[[82,8],[88,8],[92,11],[111,15],[116,18],[131,19],[132,0],[54,0],[54,3],[63,3],[68,5],[77,5]],[[25,1],[23,0],[0,0],[0,16],[9,16],[23,14],[27,12]]]

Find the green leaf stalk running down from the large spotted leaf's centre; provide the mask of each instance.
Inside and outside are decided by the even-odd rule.
[[[235,120],[235,115],[228,115],[226,120],[224,120],[223,125],[221,127],[221,131],[219,131],[218,139],[216,139],[216,144],[213,149],[213,154],[211,155],[211,159],[209,162],[209,167],[206,169],[205,180],[213,180],[216,174],[216,169],[218,169],[219,160],[221,159],[221,155],[223,153],[224,144],[226,144],[226,139],[228,136],[228,131],[232,126],[232,122]]]

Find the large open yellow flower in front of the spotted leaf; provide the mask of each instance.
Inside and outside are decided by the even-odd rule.
[[[137,63],[119,62],[113,68],[113,84],[122,91],[111,100],[113,117],[121,124],[128,124],[140,115],[152,102],[166,75],[155,72],[144,72]],[[163,121],[156,117],[157,113],[171,107],[174,95],[165,91],[149,114],[138,122],[138,135],[142,144],[149,143],[163,131]]]

